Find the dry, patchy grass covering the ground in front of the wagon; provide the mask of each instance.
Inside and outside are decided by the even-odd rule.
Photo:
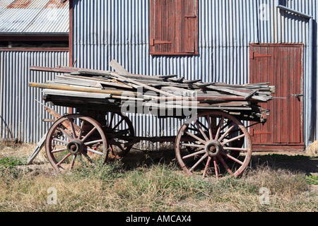
[[[28,150],[30,148],[31,150]],[[32,145],[1,147],[0,160],[28,157]],[[44,153],[44,152],[42,152]],[[122,162],[56,174],[46,166],[0,166],[0,211],[317,211],[317,190],[305,174],[269,166],[247,169],[239,179],[188,177],[173,164],[124,169]],[[259,202],[262,187],[269,203]],[[48,204],[48,189],[57,204]]]

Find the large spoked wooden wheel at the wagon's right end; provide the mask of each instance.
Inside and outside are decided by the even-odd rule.
[[[237,177],[249,164],[252,141],[246,127],[232,115],[204,112],[179,129],[175,153],[189,175]]]

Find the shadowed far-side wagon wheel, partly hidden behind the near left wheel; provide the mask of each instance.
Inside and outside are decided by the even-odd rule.
[[[109,112],[106,115],[104,130],[113,155],[124,157],[126,153],[129,153],[134,143],[126,141],[125,137],[135,136],[135,131],[128,117],[120,113]]]

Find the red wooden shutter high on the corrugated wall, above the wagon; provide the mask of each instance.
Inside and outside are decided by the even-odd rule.
[[[150,0],[152,55],[198,54],[198,0]]]

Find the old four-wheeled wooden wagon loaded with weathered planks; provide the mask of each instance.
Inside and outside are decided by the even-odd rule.
[[[237,177],[246,169],[252,155],[247,128],[266,123],[269,110],[259,103],[271,100],[273,87],[267,83],[202,83],[175,75],[133,75],[116,61],[111,66],[116,72],[31,67],[61,74],[54,81],[29,83],[43,89],[45,102],[80,112],[61,116],[45,107],[55,118],[42,141],[54,169],[70,170],[83,160],[88,165],[106,163],[124,157],[140,141],[174,142],[176,159],[190,175]],[[184,124],[177,136],[135,136],[126,113],[139,113],[140,109],[141,114],[179,118]]]

